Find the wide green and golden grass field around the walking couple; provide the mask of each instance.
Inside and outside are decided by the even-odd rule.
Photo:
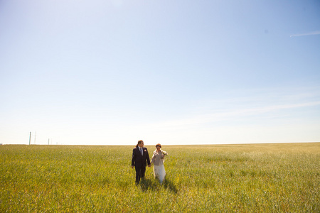
[[[0,146],[0,212],[320,212],[320,143],[163,146],[138,186],[132,148]]]

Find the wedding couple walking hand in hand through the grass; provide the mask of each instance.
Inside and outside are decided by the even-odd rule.
[[[159,179],[159,182],[164,181],[166,170],[164,170],[164,156],[168,155],[165,151],[161,150],[161,144],[156,144],[156,150],[152,155],[151,162],[148,150],[144,147],[144,141],[138,141],[137,146],[132,151],[132,168],[136,168],[136,184],[139,184],[140,179],[144,178],[146,172],[146,163],[151,167],[154,163],[154,177]]]

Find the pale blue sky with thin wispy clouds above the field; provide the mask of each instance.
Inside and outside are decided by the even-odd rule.
[[[0,1],[0,29],[0,143],[320,141],[320,1]]]

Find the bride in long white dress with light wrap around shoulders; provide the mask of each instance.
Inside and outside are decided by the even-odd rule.
[[[164,170],[164,156],[168,155],[165,151],[161,150],[161,144],[156,144],[156,150],[152,155],[151,163],[154,163],[154,177],[158,178],[160,182],[164,181],[166,170]]]

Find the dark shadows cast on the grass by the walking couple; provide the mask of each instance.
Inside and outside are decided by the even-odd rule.
[[[159,183],[158,179],[142,179],[139,185],[143,192],[146,192],[147,190],[158,191],[160,190],[160,187],[163,186],[165,189],[169,189],[171,192],[174,192],[175,194],[178,193],[176,185],[174,185],[174,182],[172,182],[168,178],[166,178],[162,183]]]

